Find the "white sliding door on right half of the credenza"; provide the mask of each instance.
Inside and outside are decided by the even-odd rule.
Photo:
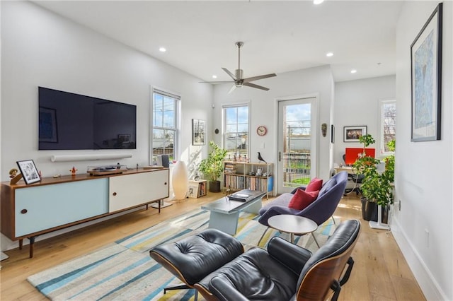
[[[168,197],[168,170],[110,177],[109,212]]]

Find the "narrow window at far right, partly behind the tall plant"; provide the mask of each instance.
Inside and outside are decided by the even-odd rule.
[[[389,155],[387,143],[394,140],[396,133],[396,100],[381,100],[379,102],[381,120],[381,153]]]

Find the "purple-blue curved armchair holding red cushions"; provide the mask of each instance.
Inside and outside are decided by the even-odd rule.
[[[258,222],[268,225],[268,219],[280,214],[291,214],[294,216],[304,216],[314,220],[317,225],[321,225],[333,216],[343,193],[345,192],[346,183],[348,182],[348,172],[338,172],[338,174],[328,179],[319,191],[318,198],[309,206],[301,211],[288,207],[294,191],[278,196],[275,200],[260,209],[260,218]],[[317,243],[317,242],[316,242]]]

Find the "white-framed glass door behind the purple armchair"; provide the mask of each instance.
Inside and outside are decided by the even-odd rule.
[[[316,175],[316,98],[278,102],[278,193]]]

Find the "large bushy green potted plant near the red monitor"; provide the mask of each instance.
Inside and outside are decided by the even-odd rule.
[[[370,157],[365,153],[367,146],[375,143],[374,138],[367,134],[359,138],[360,143],[363,144],[363,153],[355,161],[353,168],[358,175],[362,175],[362,218],[365,220],[377,221],[377,207],[383,208],[382,222],[386,223],[388,220],[388,208],[393,203],[393,182],[394,182],[394,155],[390,155],[384,159],[386,168],[383,172],[379,172],[377,165],[381,162],[375,158]],[[394,141],[391,142],[394,146]],[[392,150],[392,149],[391,149]]]

